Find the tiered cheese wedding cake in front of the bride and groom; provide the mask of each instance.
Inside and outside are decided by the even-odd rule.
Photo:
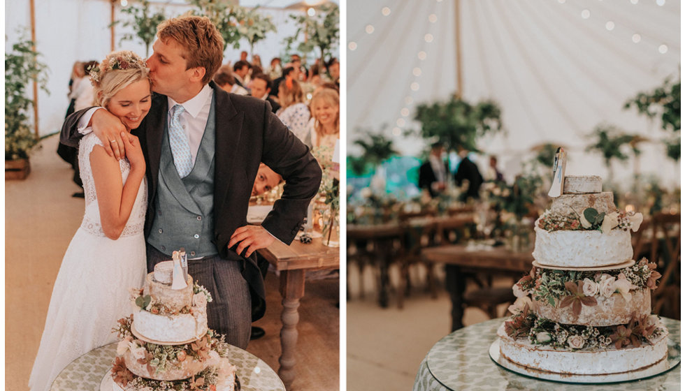
[[[239,390],[228,344],[207,327],[211,295],[174,262],[155,265],[131,292],[134,313],[115,328],[114,390]]]

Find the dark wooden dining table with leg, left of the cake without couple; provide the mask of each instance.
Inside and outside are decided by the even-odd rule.
[[[468,272],[520,277],[533,268],[533,249],[512,251],[505,246],[469,247],[463,244],[431,247],[421,251],[426,260],[445,264],[445,280],[452,302],[452,331],[463,327],[463,295]],[[448,284],[449,285],[449,284]]]

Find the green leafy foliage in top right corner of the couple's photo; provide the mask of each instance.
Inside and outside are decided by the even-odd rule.
[[[287,52],[294,47],[297,52],[308,54],[318,48],[321,64],[326,57],[335,57],[333,47],[340,41],[340,9],[336,4],[322,6],[313,17],[305,14],[290,15],[290,18],[296,22],[297,31],[284,40]]]

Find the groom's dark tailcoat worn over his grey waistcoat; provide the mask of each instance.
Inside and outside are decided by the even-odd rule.
[[[243,258],[226,248],[237,228],[247,225],[247,206],[259,163],[264,162],[285,179],[283,195],[273,205],[262,226],[286,244],[290,244],[307,214],[310,200],[321,182],[321,168],[305,146],[271,112],[266,101],[251,96],[228,94],[210,82],[216,110],[214,239],[219,256],[245,261],[243,276],[250,284],[252,300],[264,302],[264,280],[257,267],[256,254]],[[154,219],[154,196],[157,191],[159,158],[168,100],[153,94],[152,107],[140,127],[131,131],[138,136],[147,164],[147,217],[145,237]],[[78,120],[86,110],[74,113],[64,121],[60,142],[78,146],[81,135]],[[253,320],[264,316],[254,313]]]

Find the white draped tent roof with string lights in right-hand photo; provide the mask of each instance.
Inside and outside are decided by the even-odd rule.
[[[405,154],[424,148],[423,140],[400,133],[419,128],[412,121],[417,104],[456,91],[455,3],[347,1],[348,154],[358,152],[352,141],[359,128],[383,129]],[[491,98],[502,108],[507,133],[479,145],[500,156],[500,166],[552,142],[567,147],[573,173],[605,175],[598,154],[584,149],[593,128],[607,123],[653,140],[641,145],[637,170],[679,184],[679,164],[663,156],[658,140],[666,133],[658,121],[623,110],[638,92],[667,77],[679,80],[679,1],[459,3],[463,98]],[[505,170],[512,175],[518,166]],[[631,163],[616,167],[616,177],[633,170]]]

